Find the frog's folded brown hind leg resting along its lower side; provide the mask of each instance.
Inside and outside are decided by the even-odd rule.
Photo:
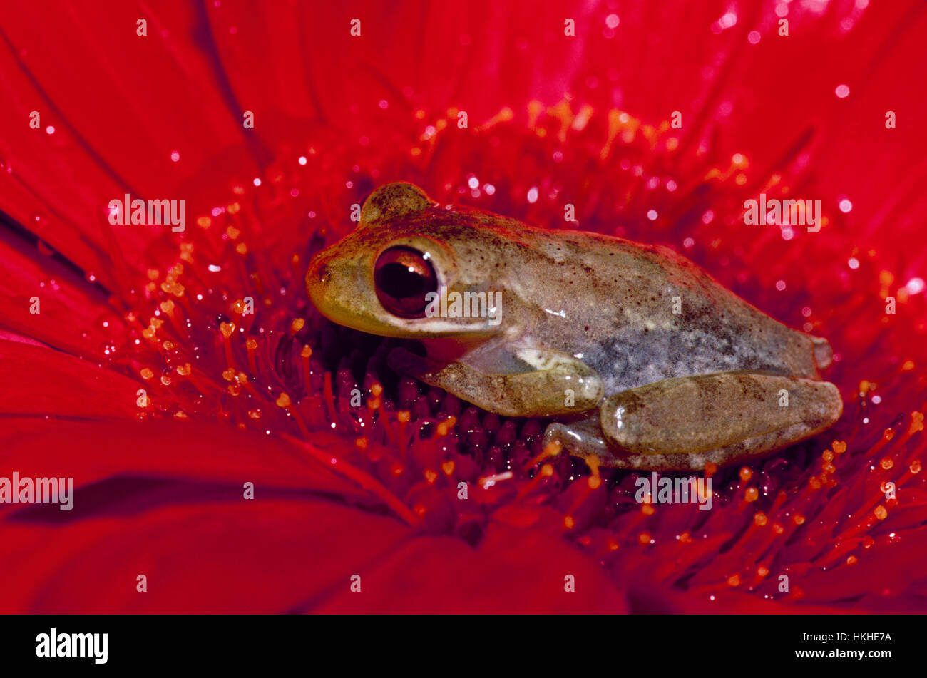
[[[602,432],[609,466],[700,470],[767,455],[840,418],[832,383],[756,372],[667,379],[607,397]]]

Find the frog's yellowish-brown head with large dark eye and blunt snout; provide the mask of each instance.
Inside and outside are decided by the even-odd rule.
[[[407,182],[377,188],[357,229],[319,252],[306,288],[329,320],[366,333],[411,339],[485,335],[499,329],[501,304],[489,296],[483,317],[449,317],[454,300],[481,290],[468,265],[481,241],[480,218],[438,207]],[[500,300],[501,301],[501,300]],[[476,306],[476,302],[474,302]],[[442,311],[443,308],[443,311]]]

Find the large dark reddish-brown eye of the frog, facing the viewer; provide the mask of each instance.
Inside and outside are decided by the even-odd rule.
[[[429,257],[412,247],[390,247],[376,259],[376,298],[400,318],[424,318],[426,295],[438,292],[438,276]]]

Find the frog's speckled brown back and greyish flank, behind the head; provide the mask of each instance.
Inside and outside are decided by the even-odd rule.
[[[568,320],[539,317],[532,340],[581,354],[607,393],[731,370],[817,379],[830,362],[826,341],[773,320],[667,247],[585,232],[526,235],[528,279],[543,283],[523,294]]]

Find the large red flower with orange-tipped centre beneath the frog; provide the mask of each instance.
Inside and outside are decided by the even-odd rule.
[[[927,19],[866,5],[6,9],[0,476],[76,491],[0,504],[0,609],[927,609]],[[679,249],[829,338],[843,420],[641,506],[398,378],[302,283],[391,179]],[[820,232],[743,225],[760,192]]]

